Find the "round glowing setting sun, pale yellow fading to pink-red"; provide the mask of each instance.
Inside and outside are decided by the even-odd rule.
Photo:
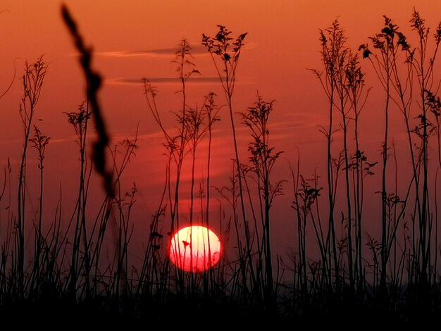
[[[219,262],[221,241],[207,227],[193,225],[175,232],[170,242],[170,261],[193,273],[207,270]]]

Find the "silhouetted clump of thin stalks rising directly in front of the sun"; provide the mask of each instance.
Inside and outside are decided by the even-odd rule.
[[[156,90],[151,86],[147,79],[143,79],[144,83],[144,94],[147,98],[147,106],[149,111],[154,116],[154,120],[159,125],[163,135],[166,139],[164,146],[167,149],[168,161],[166,166],[166,182],[163,191],[163,195],[161,198],[161,202],[159,204],[159,208],[156,211],[154,216],[154,220],[151,223],[152,232],[161,233],[158,231],[158,223],[163,218],[164,212],[166,211],[165,199],[168,199],[168,205],[170,206],[170,234],[172,234],[176,229],[179,228],[179,219],[180,219],[180,182],[181,182],[181,173],[182,167],[185,164],[185,158],[188,154],[191,156],[191,180],[190,180],[190,225],[193,223],[195,214],[194,214],[194,197],[195,197],[195,170],[196,170],[196,160],[197,160],[197,147],[201,142],[201,139],[204,139],[207,132],[209,134],[209,156],[207,163],[207,202],[206,202],[206,213],[204,216],[203,207],[201,206],[201,221],[204,222],[204,218],[206,218],[207,225],[209,224],[209,177],[210,177],[210,160],[211,160],[211,131],[213,124],[219,120],[218,118],[218,107],[216,106],[214,99],[215,94],[209,93],[205,96],[203,106],[199,107],[191,107],[187,104],[187,80],[194,74],[199,74],[199,71],[196,70],[195,64],[190,61],[192,58],[191,55],[191,46],[187,42],[186,39],[183,39],[180,44],[180,49],[176,52],[176,59],[173,63],[177,63],[177,71],[178,78],[180,80],[181,89],[180,93],[182,93],[182,108],[180,111],[175,113],[176,121],[178,123],[177,132],[173,132],[173,130],[168,130],[162,123],[161,115],[159,109],[156,105]],[[173,175],[173,171],[175,174]],[[204,189],[200,187],[199,196],[202,199],[204,194]],[[161,258],[158,256],[159,245],[156,243],[156,239],[160,238],[158,236],[154,236],[151,239],[150,244],[152,245],[151,249],[147,249],[146,256],[144,258],[144,277],[151,279],[153,275],[147,275],[148,273],[147,266],[149,263],[156,263],[157,261],[161,261]],[[156,249],[153,249],[153,246]],[[179,246],[179,245],[176,245]],[[209,248],[210,250],[210,248]],[[176,254],[180,254],[179,251],[176,251]],[[178,263],[183,263],[180,261],[180,258],[176,257],[175,261]],[[192,261],[190,261],[192,263]],[[157,265],[154,267],[156,269]],[[178,266],[179,267],[179,266]],[[181,266],[182,267],[182,266]],[[161,266],[163,270],[161,273],[166,275],[170,268],[169,260],[166,258],[163,261],[163,266]],[[175,270],[175,286],[178,289],[180,294],[183,294],[185,290],[187,290],[187,294],[193,294],[197,292],[197,283],[199,282],[199,277],[196,277],[193,274],[185,275],[185,272],[180,270],[181,268],[174,268]],[[204,286],[208,285],[206,273],[203,275]],[[212,273],[208,273],[211,280],[213,280]],[[188,280],[188,281],[187,281]],[[165,293],[170,290],[170,283],[168,277],[161,277],[161,292]]]

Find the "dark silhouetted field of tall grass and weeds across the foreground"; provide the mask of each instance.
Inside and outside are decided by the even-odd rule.
[[[182,40],[174,63],[182,107],[175,113],[173,132],[163,123],[156,88],[148,78],[143,80],[147,107],[163,133],[168,162],[142,252],[144,260],[135,267],[130,265],[128,251],[137,187],[133,183],[125,192],[121,181],[137,150],[137,135],[109,146],[111,132],[104,125],[105,112],[97,98],[102,82],[92,66],[93,54],[66,7],[63,19],[80,53],[87,87],[87,101],[76,112],[66,113],[80,162],[75,212],[70,219],[62,219],[62,201],[44,199],[44,181],[50,176],[44,172],[44,156],[50,138],[39,130],[35,109],[49,65],[41,57],[27,63],[23,75],[19,111],[23,157],[14,170],[19,176],[11,176],[9,166],[0,185],[1,207],[9,208],[11,199],[17,203],[0,227],[1,316],[11,320],[80,316],[107,323],[127,320],[179,326],[182,320],[216,325],[228,325],[231,320],[243,320],[244,325],[264,320],[318,323],[318,317],[336,322],[373,316],[432,320],[441,313],[437,223],[441,77],[436,71],[441,23],[429,29],[414,11],[409,23],[411,43],[385,17],[378,34],[359,49],[347,46],[346,32],[337,20],[320,30],[321,65],[312,73],[323,89],[319,95],[328,100],[323,111],[329,115],[328,125],[321,127],[327,145],[321,181],[318,174],[299,173],[300,158],[285,180],[273,180],[282,154],[271,145],[268,130],[273,101],[257,96],[247,111],[237,113],[236,74],[240,61],[246,61],[241,50],[247,34],[236,36],[219,25],[216,35],[203,35],[201,44],[211,56],[223,95],[207,94],[202,106],[196,107],[187,103],[186,88],[187,80],[199,72],[192,63],[190,44]],[[375,73],[384,93],[383,117],[378,123],[385,130],[378,162],[365,154],[359,134],[360,114],[367,111],[370,92],[364,68]],[[229,183],[222,188],[211,185],[211,143],[219,105],[228,109],[229,118],[223,120],[230,123],[235,154]],[[390,138],[392,111],[402,116],[409,155],[410,171],[400,175],[399,185],[395,144]],[[247,155],[240,153],[239,126],[249,132]],[[92,142],[88,132],[93,130],[96,139]],[[87,153],[91,144],[92,160]],[[208,156],[203,181],[195,174],[201,148]],[[26,175],[30,149],[38,155],[37,178]],[[187,192],[190,212],[185,220],[180,210],[184,164],[192,169]],[[91,216],[86,209],[95,172],[102,179],[106,198]],[[380,203],[366,207],[366,182],[373,176],[380,178]],[[17,196],[8,196],[11,185],[17,186]],[[27,210],[29,185],[39,187],[38,212],[32,215]],[[292,192],[297,237],[291,261],[282,262],[272,250],[271,216],[274,202],[287,192]],[[224,201],[219,212],[213,195]],[[53,219],[44,219],[44,204],[56,204]],[[364,230],[371,213],[368,208],[376,208],[380,215],[379,236]],[[230,244],[235,254],[224,254],[218,265],[204,272],[186,273],[168,259],[167,233],[196,220],[207,227],[219,226],[223,244]],[[311,259],[311,250],[318,251],[319,258]],[[287,269],[292,271],[289,280],[284,277]]]

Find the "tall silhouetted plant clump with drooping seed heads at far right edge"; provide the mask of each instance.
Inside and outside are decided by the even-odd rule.
[[[430,148],[428,143],[429,138],[436,131],[429,119],[431,105],[433,105],[432,101],[434,100],[434,94],[430,91],[434,87],[433,65],[440,44],[441,25],[438,25],[435,32],[435,46],[431,55],[428,50],[429,29],[426,28],[425,22],[418,11],[413,13],[411,27],[417,35],[418,46],[416,47],[412,47],[404,34],[399,31],[397,25],[385,16],[385,26],[381,33],[371,38],[375,51],[371,51],[367,45],[361,45],[360,49],[363,52],[364,58],[368,58],[371,61],[375,73],[385,88],[387,94],[386,110],[389,108],[390,101],[393,101],[404,115],[412,165],[412,178],[406,196],[404,199],[399,199],[398,196],[392,199],[392,201],[399,201],[403,206],[399,213],[395,213],[394,226],[390,229],[386,225],[387,220],[390,218],[390,212],[388,212],[390,199],[388,199],[388,196],[391,196],[391,194],[387,193],[385,184],[387,148],[383,149],[383,230],[380,286],[385,287],[387,263],[389,262],[391,249],[396,245],[399,220],[404,218],[404,211],[410,196],[411,186],[413,185],[415,201],[414,206],[411,206],[414,211],[411,246],[409,247],[411,251],[403,251],[403,254],[409,254],[408,282],[411,285],[418,285],[418,291],[424,288],[424,291],[427,293],[427,288],[430,286],[428,284],[430,284],[431,279],[430,270],[432,270],[431,263],[433,258],[431,248],[433,221],[429,202],[431,194],[428,187],[430,177],[428,171]],[[416,77],[416,80],[414,77]],[[415,99],[416,92],[418,92],[419,101]],[[418,115],[415,115],[415,108],[419,108],[420,113]],[[432,113],[435,115],[435,121],[437,121],[436,110]],[[419,121],[414,127],[412,127],[411,123],[412,118],[416,118]],[[387,146],[387,125],[385,146]],[[415,225],[418,225],[418,230],[416,230]],[[437,261],[436,249],[434,260]],[[392,275],[392,279],[397,280],[396,275]]]

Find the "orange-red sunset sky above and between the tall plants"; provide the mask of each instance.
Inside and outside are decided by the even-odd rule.
[[[348,46],[356,49],[359,44],[368,42],[368,37],[379,32],[383,15],[393,18],[404,31],[409,31],[414,6],[428,26],[435,28],[441,20],[439,0],[65,2],[87,44],[93,45],[94,67],[105,78],[100,99],[113,141],[132,137],[139,125],[139,150],[130,164],[125,182],[128,189],[132,181],[139,187],[135,218],[143,226],[149,223],[158,203],[157,192],[163,183],[165,158],[162,156],[161,135],[148,112],[142,85],[137,82],[142,77],[154,82],[159,90],[159,106],[164,119],[173,126],[170,111],[179,108],[180,99],[175,93],[179,85],[173,82],[176,72],[171,61],[182,38],[194,45],[194,62],[204,78],[189,84],[189,103],[201,104],[204,94],[214,91],[219,95],[218,104],[224,104],[218,82],[213,79],[216,72],[210,58],[199,46],[201,35],[215,35],[218,24],[232,30],[233,36],[248,32],[237,73],[235,109],[245,111],[256,100],[258,91],[264,99],[275,100],[271,119],[272,143],[276,149],[285,151],[275,180],[289,179],[289,163],[297,162],[299,151],[301,172],[309,177],[317,168],[318,173],[323,174],[324,186],[325,138],[318,131],[318,125],[326,123],[326,99],[316,77],[306,70],[321,69],[318,30],[325,29],[338,18],[347,32]],[[55,203],[58,201],[59,183],[66,187],[66,191],[75,187],[78,170],[73,128],[68,125],[63,112],[75,111],[85,99],[82,73],[61,20],[60,5],[58,0],[2,0],[0,3],[0,94],[8,87],[14,68],[17,70],[13,87],[0,99],[0,166],[3,168],[10,158],[13,170],[17,171],[23,144],[18,115],[23,96],[20,77],[25,61],[35,61],[44,54],[49,70],[36,117],[41,119],[37,124],[42,132],[51,137],[46,155],[46,199]],[[368,63],[365,68],[368,68]],[[439,68],[437,73],[440,77]],[[383,130],[378,105],[384,98],[373,75],[366,76],[366,85],[373,90],[362,118],[361,139],[364,149],[378,160]],[[230,175],[225,169],[230,168],[228,160],[232,158],[230,144],[225,143],[230,139],[225,108],[221,116],[223,120],[215,132],[216,153],[213,155],[213,175],[217,185],[225,184],[225,178]],[[240,141],[246,147],[246,130],[240,130]],[[401,130],[402,127],[397,124],[397,142]],[[246,159],[245,151],[243,155],[242,158]],[[30,173],[34,171],[32,160],[35,160],[34,154],[30,154]],[[97,187],[99,189],[99,185]],[[293,246],[289,235],[285,237],[294,229],[290,184],[287,184],[285,193],[282,202],[275,204],[278,220],[273,229],[280,249]],[[75,194],[71,197],[66,195],[66,204],[75,199]]]

